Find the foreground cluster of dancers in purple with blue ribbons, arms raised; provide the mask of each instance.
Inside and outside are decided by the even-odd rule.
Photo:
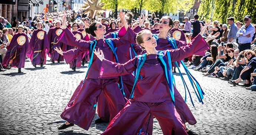
[[[67,122],[58,129],[75,124],[88,130],[98,106],[101,121],[109,122],[102,135],[152,135],[153,116],[164,134],[187,135],[184,124],[194,125],[196,119],[174,86],[171,63],[208,50],[207,41],[219,33],[206,39],[200,33],[188,44],[174,40],[178,47],[174,49],[167,38],[173,27],[170,17],[161,18],[160,33],[153,35],[148,30],[141,31],[145,17],[132,30],[129,27],[131,17],[122,11],[119,14],[124,27],[118,33],[104,37],[103,25],[93,22],[85,28],[86,41],[77,39],[63,24],[65,30],[60,34],[59,42],[77,48],[66,52],[55,50],[67,63],[86,51],[89,51],[90,60],[85,79],[60,115]],[[201,31],[205,31],[209,24],[210,21],[201,27]],[[96,39],[91,40],[91,37]]]

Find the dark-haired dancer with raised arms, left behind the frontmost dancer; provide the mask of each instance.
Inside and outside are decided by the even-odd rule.
[[[119,14],[121,20],[125,21],[125,13],[122,13],[122,11],[120,11]],[[65,21],[65,19],[66,17],[63,16],[63,22]],[[65,23],[63,26],[66,27]],[[113,51],[103,37],[103,35],[106,33],[104,26],[102,26],[102,24],[99,22],[93,22],[92,24],[90,24],[90,27],[87,27],[86,29],[88,29],[89,34],[91,34],[93,37],[96,37],[96,40],[94,40],[96,41],[95,48],[103,49],[104,52],[108,54],[106,59],[110,61],[115,61]],[[131,28],[128,27],[127,23],[125,23],[125,27],[122,28],[118,34],[119,38],[111,39],[114,42],[114,47],[119,47],[121,45],[131,44],[135,42],[136,35],[131,30]],[[91,41],[76,39],[67,28],[65,28],[62,34],[60,34],[59,41],[65,44],[74,45],[75,47],[78,47],[80,49],[70,50],[77,52],[76,55],[73,55],[73,53],[72,55],[67,55],[67,57],[69,57],[69,60],[76,58],[79,54],[88,50],[90,48],[90,45],[93,45],[92,43],[95,43]],[[68,52],[66,54],[68,54]],[[59,53],[61,54],[61,52]],[[63,52],[63,55],[66,54],[65,52]],[[59,129],[65,129],[69,126],[73,126],[73,124],[76,124],[81,128],[88,130],[95,115],[97,99],[102,91],[104,92],[104,97],[109,108],[109,121],[114,118],[115,115],[118,114],[118,112],[125,105],[126,101],[118,86],[119,78],[108,77],[104,79],[99,79],[98,74],[100,72],[101,61],[99,61],[95,55],[90,63],[91,65],[88,70],[88,76],[86,76],[86,79],[83,82],[81,89],[79,90],[79,92],[74,92],[74,94],[78,94],[73,95],[75,96],[74,100],[68,103],[65,110],[61,114],[61,117],[67,122],[60,126]]]

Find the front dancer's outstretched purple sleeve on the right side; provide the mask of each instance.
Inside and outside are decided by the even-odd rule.
[[[193,54],[201,53],[202,51],[210,49],[210,46],[204,40],[204,38],[198,34],[190,43],[180,41],[181,44],[186,46],[181,46],[178,49],[170,50],[171,61],[181,61],[183,58],[191,56]],[[200,47],[198,47],[200,45]]]

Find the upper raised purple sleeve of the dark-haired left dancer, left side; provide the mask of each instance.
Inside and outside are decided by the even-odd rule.
[[[60,34],[58,41],[75,46],[80,49],[88,49],[89,48],[89,41],[84,41],[81,39],[77,39],[75,35],[68,29],[66,28],[65,30],[62,31]]]

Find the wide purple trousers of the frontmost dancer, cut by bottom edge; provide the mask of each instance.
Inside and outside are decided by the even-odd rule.
[[[137,135],[150,113],[158,120],[164,135],[187,135],[172,101],[148,103],[134,99],[128,100],[101,135]]]

